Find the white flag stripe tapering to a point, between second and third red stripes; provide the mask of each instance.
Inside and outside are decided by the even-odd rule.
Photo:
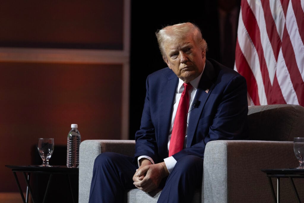
[[[277,61],[275,60],[275,55],[273,53],[273,49],[272,49],[271,43],[268,38],[266,22],[264,19],[263,7],[261,5],[261,2],[259,2],[259,1],[247,0],[247,2],[249,4],[251,10],[253,11],[255,18],[257,19],[257,24],[260,29],[260,38],[261,38],[261,44],[263,47],[264,58],[265,58],[267,69],[268,69],[270,83],[272,85],[273,80],[275,78],[275,69],[276,69]],[[267,51],[264,51],[264,50],[267,50]]]

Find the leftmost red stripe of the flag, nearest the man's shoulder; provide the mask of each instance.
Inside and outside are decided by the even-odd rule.
[[[248,91],[254,105],[261,105],[258,88],[257,88],[257,81],[240,48],[240,44],[239,44],[238,40],[236,43],[235,57],[236,57],[235,63],[236,63],[236,67],[237,67],[237,72],[239,72],[241,75],[243,75],[245,77],[246,82],[247,82],[247,91]]]

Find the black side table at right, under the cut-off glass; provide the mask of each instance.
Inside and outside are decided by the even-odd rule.
[[[262,169],[261,171],[266,173],[268,177],[272,197],[275,202],[280,202],[280,178],[289,178],[292,188],[295,192],[295,196],[298,199],[298,202],[301,202],[298,191],[295,188],[293,178],[304,178],[304,169]],[[277,198],[275,197],[275,190],[271,178],[277,178],[278,180]]]

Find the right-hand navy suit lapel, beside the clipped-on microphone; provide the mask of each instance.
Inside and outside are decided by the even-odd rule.
[[[200,101],[199,107],[194,108],[190,113],[188,132],[187,132],[187,147],[191,146],[199,118],[204,110],[206,101],[208,100],[212,89],[214,88],[213,78],[215,72],[212,64],[206,60],[206,65],[202,77],[199,81],[198,89],[196,90],[195,99]]]

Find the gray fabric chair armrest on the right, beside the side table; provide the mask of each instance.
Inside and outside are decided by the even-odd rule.
[[[205,202],[271,202],[273,199],[268,178],[261,169],[292,168],[297,167],[298,164],[293,151],[293,142],[248,140],[208,142],[204,155],[204,200]],[[285,186],[289,187],[289,182],[281,185],[281,187]],[[293,194],[289,188],[286,191]],[[290,197],[290,194],[285,196]],[[284,197],[284,194],[281,196]]]

